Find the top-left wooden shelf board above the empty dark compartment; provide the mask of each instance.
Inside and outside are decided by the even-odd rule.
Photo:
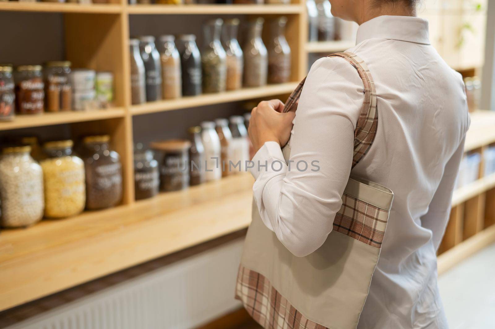
[[[0,2],[1,11],[34,11],[34,12],[78,12],[78,13],[120,13],[119,4],[79,4],[56,2]]]

